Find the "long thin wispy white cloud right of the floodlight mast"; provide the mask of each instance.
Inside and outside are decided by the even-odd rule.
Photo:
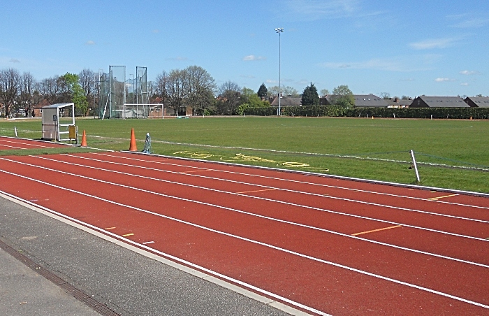
[[[374,58],[363,62],[325,62],[320,66],[330,69],[375,69],[381,71],[421,71],[431,68],[439,55],[397,56]]]

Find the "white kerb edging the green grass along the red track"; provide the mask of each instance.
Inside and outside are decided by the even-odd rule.
[[[207,163],[211,163],[211,164],[225,164],[225,165],[229,165],[229,166],[240,166],[240,167],[256,168],[256,169],[271,170],[271,171],[281,171],[281,172],[298,173],[298,174],[305,174],[305,175],[315,175],[315,176],[323,177],[323,178],[351,180],[351,181],[358,181],[358,182],[374,183],[374,184],[378,184],[378,185],[390,185],[393,187],[409,187],[412,189],[424,189],[424,190],[430,190],[430,191],[458,193],[458,194],[473,195],[473,196],[483,196],[483,197],[489,198],[488,193],[462,191],[462,190],[457,190],[457,189],[445,189],[445,188],[440,188],[440,187],[425,187],[423,185],[407,185],[404,183],[388,182],[388,181],[381,181],[381,180],[368,180],[368,179],[344,177],[342,175],[327,175],[324,173],[314,173],[314,172],[308,172],[308,171],[296,171],[296,170],[290,170],[290,169],[270,168],[270,167],[264,167],[264,166],[253,166],[253,165],[248,165],[248,164],[233,164],[231,162],[224,162],[224,161],[213,161],[213,160],[204,160],[204,159],[193,159],[193,158],[185,158],[185,157],[147,154],[145,152],[129,152],[129,150],[121,150],[121,152],[129,153],[129,154],[136,154],[136,155],[163,157],[163,158],[170,158],[170,159],[181,159],[181,160],[188,160],[188,161],[207,162]]]

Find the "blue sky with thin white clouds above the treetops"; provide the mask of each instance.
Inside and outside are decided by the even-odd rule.
[[[0,69],[38,80],[197,65],[256,91],[278,85],[280,47],[281,85],[300,93],[489,95],[486,0],[3,0],[0,30]]]

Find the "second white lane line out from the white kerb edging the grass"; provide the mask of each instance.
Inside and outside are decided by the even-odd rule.
[[[303,192],[303,191],[297,191],[297,190],[293,190],[293,189],[283,189],[283,188],[280,188],[280,187],[270,187],[268,185],[256,185],[254,183],[249,183],[249,182],[242,182],[242,181],[236,181],[236,180],[228,180],[228,179],[222,179],[222,178],[213,178],[213,177],[209,177],[207,175],[196,175],[196,174],[189,174],[189,173],[181,173],[181,172],[175,172],[175,171],[161,170],[161,169],[157,169],[157,168],[149,168],[149,167],[145,167],[145,166],[137,166],[137,165],[133,165],[133,164],[122,164],[122,163],[114,162],[114,161],[105,161],[105,160],[88,158],[88,157],[80,157],[80,156],[76,156],[76,155],[68,155],[68,154],[61,154],[61,155],[62,156],[67,156],[67,157],[78,158],[78,159],[84,159],[84,160],[100,161],[100,162],[103,162],[103,163],[106,163],[106,164],[117,164],[117,165],[121,165],[121,166],[130,166],[131,168],[142,168],[142,169],[147,169],[147,170],[152,170],[152,171],[160,171],[160,172],[163,172],[163,173],[172,173],[172,174],[177,174],[177,175],[188,175],[189,177],[196,177],[196,178],[203,178],[203,179],[210,179],[210,180],[219,180],[219,181],[224,181],[224,182],[237,183],[237,184],[240,184],[240,185],[250,185],[250,186],[254,186],[254,187],[262,187],[262,188],[265,188],[265,189],[277,189],[277,190],[284,191],[284,192],[292,192],[292,193],[297,193],[297,194],[306,194],[306,195],[311,195],[311,196],[319,196],[321,198],[326,198],[326,199],[335,199],[335,200],[340,200],[340,201],[349,201],[349,202],[352,202],[352,203],[360,203],[360,204],[366,204],[366,205],[370,205],[370,206],[379,206],[379,207],[383,207],[383,208],[393,208],[394,210],[405,210],[407,212],[416,212],[416,213],[422,213],[422,214],[428,214],[428,215],[435,215],[435,216],[441,216],[441,217],[455,218],[457,220],[469,220],[469,221],[472,221],[472,222],[482,222],[482,223],[489,224],[489,221],[486,221],[486,220],[477,220],[477,219],[469,218],[469,217],[461,217],[461,216],[455,216],[455,215],[447,215],[447,214],[443,214],[443,213],[434,213],[434,212],[428,212],[428,211],[425,211],[425,210],[415,210],[413,208],[401,208],[401,207],[398,207],[398,206],[388,206],[388,205],[379,204],[379,203],[372,203],[372,202],[367,202],[367,201],[358,201],[358,200],[353,200],[353,199],[340,198],[340,197],[337,197],[337,196],[330,196],[330,195],[324,195],[324,194],[316,194],[316,193],[310,193],[310,192]],[[38,157],[38,158],[43,158],[43,157]],[[71,164],[71,163],[66,162],[66,161],[61,161],[61,162],[64,162],[66,164]],[[80,165],[80,166],[84,166],[84,165]],[[237,193],[245,193],[245,192],[237,192]]]

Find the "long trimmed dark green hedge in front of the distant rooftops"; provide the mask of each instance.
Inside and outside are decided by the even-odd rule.
[[[245,115],[276,115],[277,107],[247,108]],[[284,116],[343,116],[397,118],[489,119],[489,108],[342,108],[340,106],[284,106]]]

